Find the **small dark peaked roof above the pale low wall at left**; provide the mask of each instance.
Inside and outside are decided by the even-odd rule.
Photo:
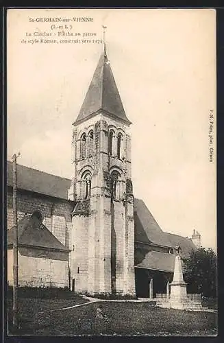
[[[8,246],[13,244],[14,226],[8,230]],[[69,252],[52,233],[33,215],[25,215],[18,222],[18,245]]]

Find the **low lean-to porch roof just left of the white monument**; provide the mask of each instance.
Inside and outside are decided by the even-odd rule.
[[[149,251],[140,263],[136,263],[136,267],[173,272],[174,263],[175,255]]]

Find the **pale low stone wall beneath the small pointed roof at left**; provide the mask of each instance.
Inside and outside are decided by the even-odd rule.
[[[18,285],[68,287],[69,253],[18,248]],[[13,285],[13,250],[8,249],[8,283]]]

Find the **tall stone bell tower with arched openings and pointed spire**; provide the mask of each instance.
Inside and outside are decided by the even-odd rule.
[[[73,123],[75,292],[135,295],[130,124],[104,45]]]

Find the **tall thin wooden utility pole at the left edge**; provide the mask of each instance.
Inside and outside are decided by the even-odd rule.
[[[19,156],[20,154],[18,154]],[[13,185],[13,303],[12,322],[14,328],[18,327],[18,224],[17,224],[17,174],[16,174],[16,154],[12,156],[12,185]]]

